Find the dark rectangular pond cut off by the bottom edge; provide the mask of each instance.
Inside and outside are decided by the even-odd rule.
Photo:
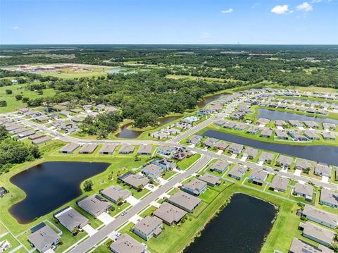
[[[230,204],[206,225],[184,253],[261,251],[265,235],[273,227],[275,207],[242,193],[233,195]]]

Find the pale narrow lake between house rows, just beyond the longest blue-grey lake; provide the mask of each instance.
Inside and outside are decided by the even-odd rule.
[[[338,125],[338,120],[334,120],[332,118],[318,118],[315,116],[306,116],[296,113],[288,113],[286,111],[275,111],[269,109],[258,109],[258,116],[256,118],[268,118],[271,121],[282,120],[282,121],[289,121],[289,120],[296,120],[296,121],[315,121],[318,123],[332,123]]]

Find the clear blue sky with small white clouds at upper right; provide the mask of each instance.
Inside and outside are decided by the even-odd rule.
[[[0,44],[338,44],[338,0],[0,0]]]

